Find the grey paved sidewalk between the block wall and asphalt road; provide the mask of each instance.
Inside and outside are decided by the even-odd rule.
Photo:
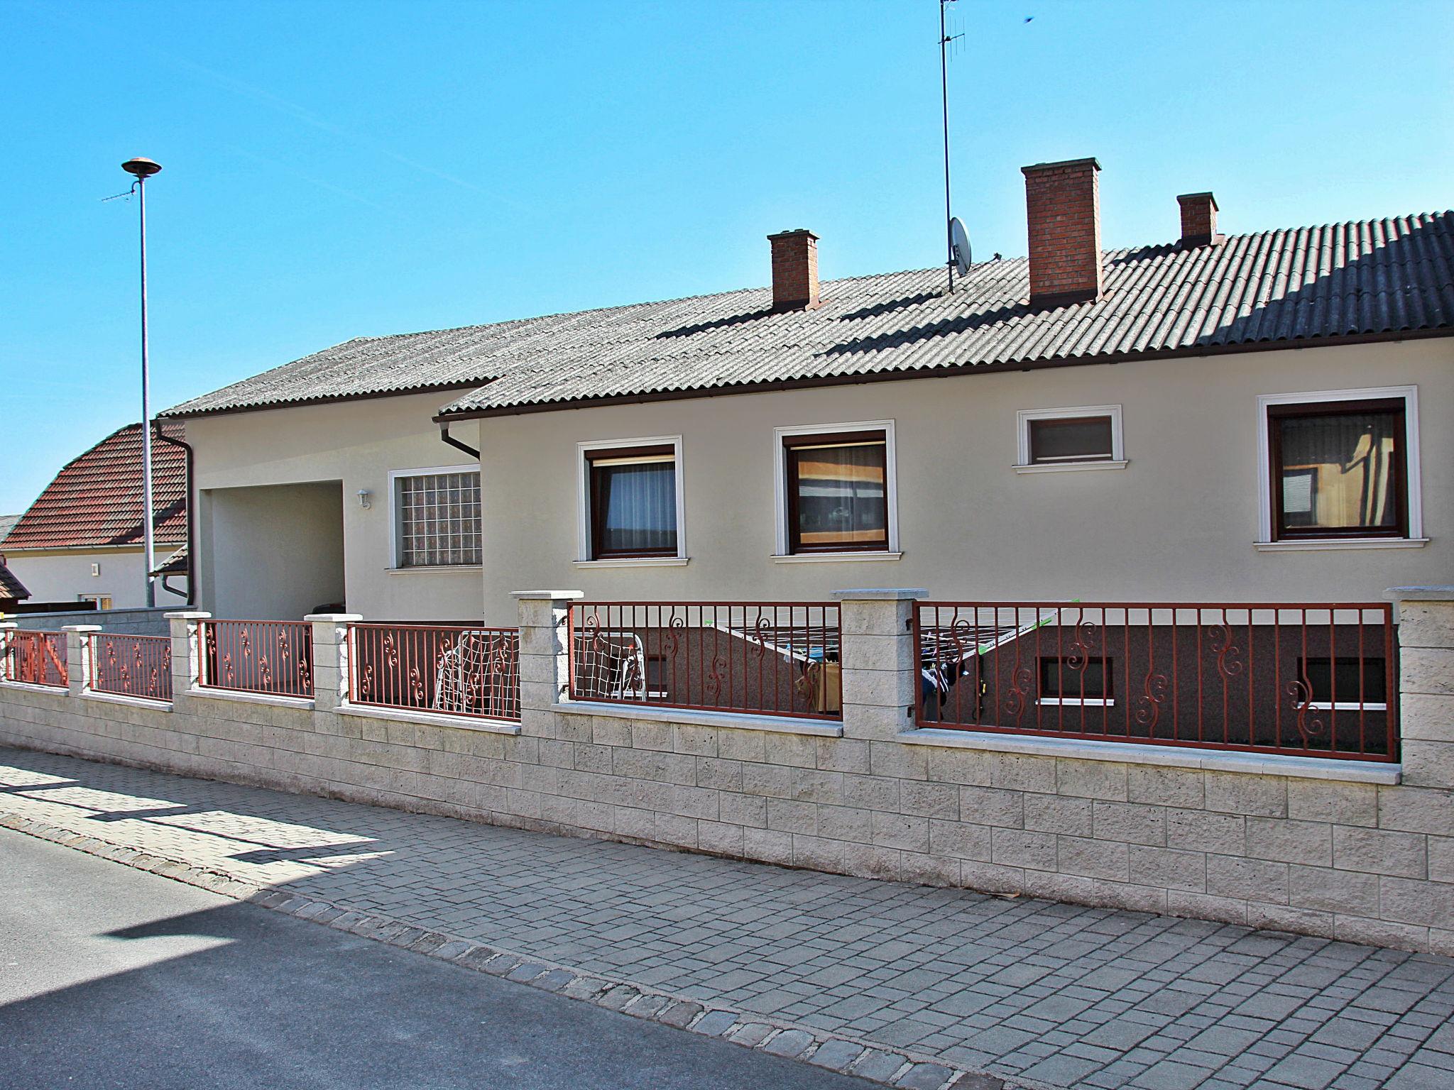
[[[1454,961],[0,748],[0,814],[1057,1087],[1448,1090]]]

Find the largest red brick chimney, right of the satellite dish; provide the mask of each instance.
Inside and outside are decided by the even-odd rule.
[[[1029,219],[1029,302],[1059,307],[1101,296],[1101,164],[1024,167]]]

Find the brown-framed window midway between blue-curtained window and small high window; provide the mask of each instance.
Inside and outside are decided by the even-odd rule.
[[[790,435],[788,552],[888,549],[888,439],[883,430]]]

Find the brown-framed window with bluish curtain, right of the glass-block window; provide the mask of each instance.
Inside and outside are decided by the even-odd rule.
[[[585,451],[590,558],[676,555],[676,448]]]

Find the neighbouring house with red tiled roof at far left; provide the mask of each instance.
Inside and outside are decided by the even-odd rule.
[[[164,432],[183,436],[179,423],[166,423]],[[151,456],[154,548],[161,562],[186,542],[186,459],[180,448],[160,440],[153,442]],[[144,606],[141,424],[122,427],[65,465],[4,536],[0,551],[29,589],[31,606]],[[172,593],[158,580],[156,600],[182,605],[185,586]]]

